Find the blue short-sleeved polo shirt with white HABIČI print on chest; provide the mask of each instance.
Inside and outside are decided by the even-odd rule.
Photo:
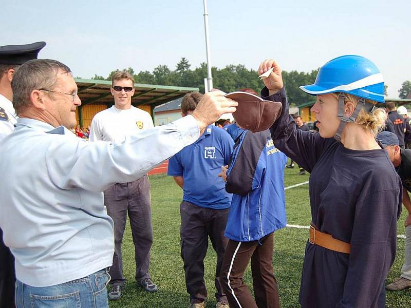
[[[183,201],[207,208],[228,208],[231,194],[217,175],[221,166],[229,164],[234,141],[223,129],[214,125],[202,136],[169,160],[169,176],[182,176]]]

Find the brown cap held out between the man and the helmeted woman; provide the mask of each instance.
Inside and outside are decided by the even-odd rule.
[[[247,92],[231,92],[224,96],[238,102],[237,111],[233,112],[234,120],[252,132],[270,128],[283,109],[279,102],[265,101]]]

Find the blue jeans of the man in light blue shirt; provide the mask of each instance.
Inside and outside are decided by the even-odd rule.
[[[106,269],[69,282],[36,287],[16,281],[17,308],[108,308]]]

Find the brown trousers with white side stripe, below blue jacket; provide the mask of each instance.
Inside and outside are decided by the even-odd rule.
[[[272,267],[274,233],[259,241],[229,240],[222,261],[220,282],[230,308],[279,308],[277,281]],[[251,259],[255,301],[244,283],[244,272]]]

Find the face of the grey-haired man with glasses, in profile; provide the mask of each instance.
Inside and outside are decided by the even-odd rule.
[[[59,72],[57,74],[57,83],[53,89],[57,93],[49,92],[50,96],[45,98],[46,110],[51,119],[51,125],[64,126],[71,128],[76,126],[76,108],[81,105],[81,100],[76,94],[73,101],[73,95],[64,93],[77,93],[77,85],[70,74]]]

